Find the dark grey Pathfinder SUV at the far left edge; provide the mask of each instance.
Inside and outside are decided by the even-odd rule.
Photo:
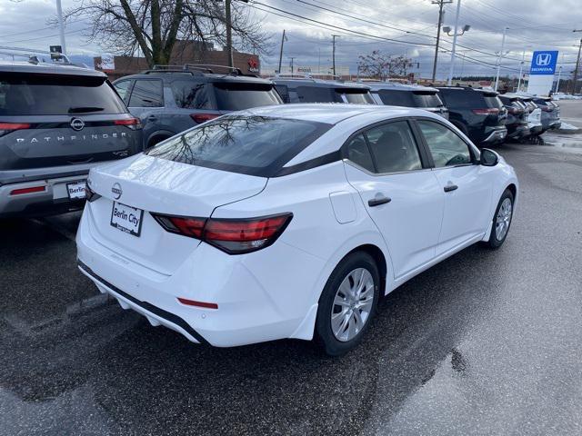
[[[0,218],[81,208],[89,169],[140,152],[141,128],[103,73],[0,63]]]

